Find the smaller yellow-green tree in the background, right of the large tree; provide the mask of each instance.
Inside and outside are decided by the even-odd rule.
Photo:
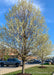
[[[49,40],[48,34],[42,34],[37,39],[38,46],[36,47],[37,50],[35,54],[41,59],[42,66],[44,60],[47,58],[48,55],[52,52],[52,42]]]

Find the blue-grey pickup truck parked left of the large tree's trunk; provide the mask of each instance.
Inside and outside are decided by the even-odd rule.
[[[0,61],[0,65],[1,67],[4,67],[4,65],[6,66],[15,65],[16,67],[18,67],[19,65],[21,65],[21,61],[18,60],[17,58],[9,58],[7,59],[7,61]]]

